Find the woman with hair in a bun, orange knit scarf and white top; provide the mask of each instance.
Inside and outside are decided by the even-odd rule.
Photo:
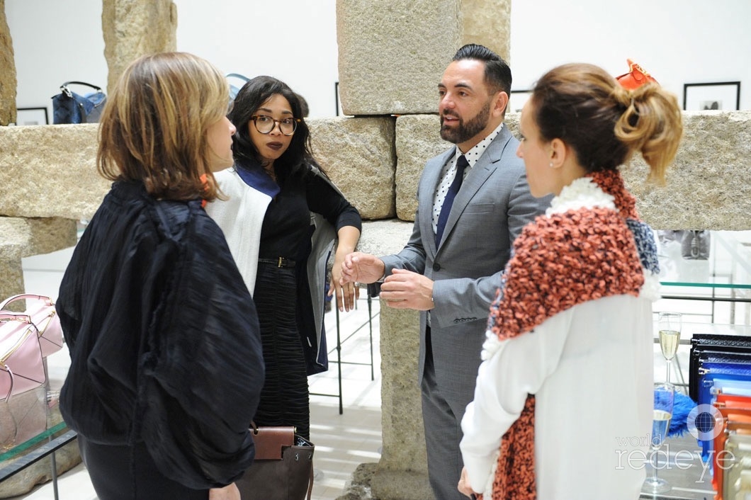
[[[459,489],[485,498],[638,498],[652,423],[659,267],[620,165],[664,182],[674,95],[593,65],[544,74],[523,107],[529,188],[550,209],[514,242],[490,310]]]

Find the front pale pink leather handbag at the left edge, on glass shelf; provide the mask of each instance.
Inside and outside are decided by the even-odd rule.
[[[37,327],[29,315],[0,312],[0,401],[47,381]]]

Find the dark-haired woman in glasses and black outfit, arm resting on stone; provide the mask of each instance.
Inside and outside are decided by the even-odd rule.
[[[344,256],[362,221],[311,161],[300,99],[273,77],[255,77],[234,101],[234,167],[216,175],[225,200],[207,212],[224,230],[261,324],[266,378],[254,420],[295,426],[309,438],[307,375],[327,369],[324,281],[334,239],[330,294],[354,306],[353,284],[339,285]]]

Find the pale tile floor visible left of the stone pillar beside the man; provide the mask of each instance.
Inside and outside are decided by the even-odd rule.
[[[27,293],[56,298],[62,273],[72,248],[23,259]],[[381,377],[379,350],[379,303],[372,301],[372,377],[371,342],[367,323],[367,301],[361,298],[357,308],[339,313],[339,337],[342,339],[342,407],[338,396],[310,397],[311,440],[315,443],[315,482],[312,498],[334,500],[345,492],[351,474],[363,462],[378,462],[381,452]],[[330,360],[336,360],[336,311],[326,314]],[[68,369],[68,352],[63,349],[48,360],[53,387],[62,385]],[[309,378],[311,393],[338,394],[336,363],[328,372]],[[96,494],[83,465],[59,477],[60,500],[96,500]],[[12,500],[52,500],[53,486],[37,486]]]

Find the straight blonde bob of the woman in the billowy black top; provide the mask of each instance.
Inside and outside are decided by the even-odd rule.
[[[207,129],[227,113],[228,96],[224,75],[205,59],[177,52],[141,56],[107,97],[99,173],[143,182],[158,199],[216,199]]]

